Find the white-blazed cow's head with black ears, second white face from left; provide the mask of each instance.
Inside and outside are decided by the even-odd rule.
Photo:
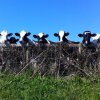
[[[28,39],[28,36],[30,35],[31,33],[30,32],[25,32],[24,30],[21,31],[20,33],[15,33],[16,36],[19,36],[20,39],[20,43],[21,44],[26,44],[26,43],[29,43],[29,39]]]

